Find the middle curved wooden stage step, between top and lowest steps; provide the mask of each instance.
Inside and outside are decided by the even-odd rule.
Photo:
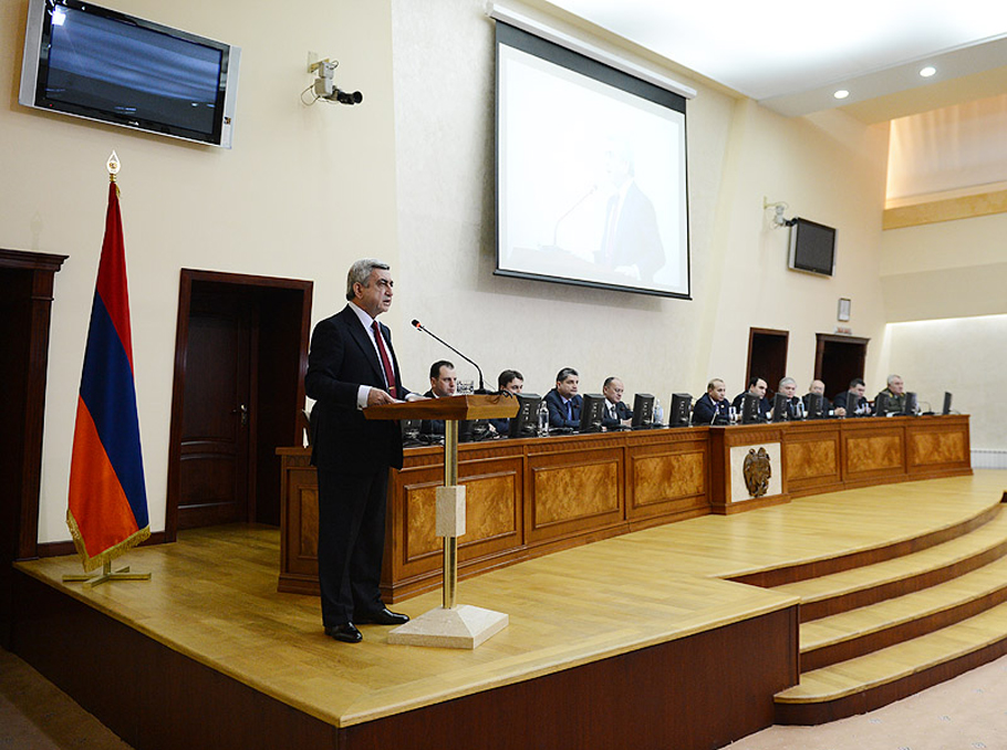
[[[810,671],[953,625],[1007,602],[1007,558],[923,591],[822,617],[800,627]]]

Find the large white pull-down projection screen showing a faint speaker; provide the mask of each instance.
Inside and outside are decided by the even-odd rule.
[[[684,95],[498,22],[495,273],[688,298],[685,119]]]

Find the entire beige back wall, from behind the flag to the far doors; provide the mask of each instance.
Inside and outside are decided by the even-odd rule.
[[[29,112],[15,103],[25,3],[0,0],[0,247],[71,254],[58,274],[43,446],[41,541],[68,538],[73,408],[115,148],[133,299],[141,430],[152,528],[164,528],[168,412],[180,268],[312,279],[314,319],[342,305],[349,262],[394,265],[390,315],[407,385],[426,387],[448,354],[408,330],[421,319],[479,361],[490,381],[516,366],[539,393],[556,371],[584,392],[620,374],[627,390],[698,396],[712,375],[740,390],[749,326],[790,331],[790,373],[811,376],[814,333],[839,296],[872,338],[882,376],[879,279],[885,128],[842,113],[785,119],[704,81],[688,104],[693,300],[620,294],[492,275],[494,25],[481,0],[121,0],[126,12],[243,48],[235,148],[219,150]],[[556,22],[561,27],[568,19]],[[598,40],[613,48],[611,39]],[[357,107],[298,96],[309,51],[341,61]],[[631,59],[636,50],[625,48]],[[653,61],[651,61],[653,62]],[[671,77],[681,70],[668,65]],[[787,231],[762,198],[839,230],[835,278],[787,270]],[[529,344],[530,342],[530,344]],[[460,363],[458,363],[460,365]],[[469,377],[475,373],[463,369]]]

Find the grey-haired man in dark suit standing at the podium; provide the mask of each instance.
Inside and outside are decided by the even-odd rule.
[[[377,316],[392,305],[387,263],[359,260],[346,275],[346,306],[311,335],[304,390],[311,413],[311,462],[319,478],[319,587],[325,634],[363,639],[359,624],[402,625],[381,600],[388,467],[402,468],[397,421],[368,421],[362,409],[417,400],[402,385],[392,332]],[[355,624],[356,625],[355,625]]]

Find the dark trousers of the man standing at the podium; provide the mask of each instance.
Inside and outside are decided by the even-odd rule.
[[[380,610],[388,470],[318,470],[319,587],[325,627]]]

